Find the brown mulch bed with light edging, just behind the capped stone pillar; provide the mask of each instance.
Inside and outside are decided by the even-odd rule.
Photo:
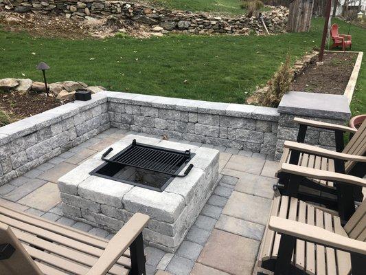
[[[290,91],[310,91],[321,94],[343,94],[352,74],[357,54],[327,52],[324,64],[316,63],[304,69],[293,81]]]

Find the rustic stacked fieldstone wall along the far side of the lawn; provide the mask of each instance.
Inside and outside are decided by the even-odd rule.
[[[209,14],[167,9],[151,8],[139,3],[124,1],[93,1],[93,0],[15,0],[8,4],[0,0],[0,10],[14,12],[34,12],[36,14],[60,14],[73,19],[93,19],[116,14],[122,19],[130,19],[141,24],[161,28],[165,31],[184,31],[190,33],[227,33],[258,34],[265,32],[262,21],[255,17],[225,18],[214,17]],[[244,12],[244,11],[243,11]],[[264,22],[269,32],[284,32],[288,9],[273,8],[263,12]]]

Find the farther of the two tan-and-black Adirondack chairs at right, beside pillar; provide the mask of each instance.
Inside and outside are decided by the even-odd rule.
[[[336,171],[337,173],[345,173],[356,177],[363,177],[366,173],[366,121],[363,122],[360,129],[356,131],[347,126],[317,122],[312,120],[304,120],[295,118],[295,122],[300,124],[297,142],[284,142],[284,152],[280,163],[297,164],[303,167],[317,168],[326,171]],[[336,135],[337,151],[334,152],[318,146],[304,144],[306,129],[313,126],[322,129],[333,130]],[[350,142],[343,148],[343,133],[348,131],[353,134]],[[279,177],[277,173],[277,177]],[[286,189],[286,179],[279,177],[280,190]],[[360,186],[354,186],[354,200],[362,201],[363,193]],[[344,191],[344,190],[343,190]],[[306,201],[323,203],[328,208],[337,210],[339,208],[340,190],[333,181],[311,179],[301,182],[298,197]],[[282,195],[286,193],[281,192]],[[351,199],[349,199],[351,200]]]

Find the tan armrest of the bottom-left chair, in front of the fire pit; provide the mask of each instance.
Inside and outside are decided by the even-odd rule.
[[[146,228],[150,217],[146,214],[137,213],[113,236],[106,249],[91,267],[87,275],[104,275],[116,261],[126,252],[135,239]]]

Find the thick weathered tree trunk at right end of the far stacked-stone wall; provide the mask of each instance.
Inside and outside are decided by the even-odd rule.
[[[314,0],[293,0],[288,13],[288,32],[308,32],[311,25]]]

